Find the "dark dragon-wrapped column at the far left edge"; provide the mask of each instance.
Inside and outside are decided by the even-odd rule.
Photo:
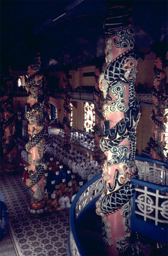
[[[4,140],[2,142],[3,154],[6,156],[6,171],[13,173],[16,171],[16,142],[15,142],[15,121],[16,114],[14,112],[13,97],[14,97],[14,77],[11,75],[11,68],[9,69],[8,77],[4,79],[4,86],[2,87],[4,96],[2,100],[3,109],[3,134]]]

